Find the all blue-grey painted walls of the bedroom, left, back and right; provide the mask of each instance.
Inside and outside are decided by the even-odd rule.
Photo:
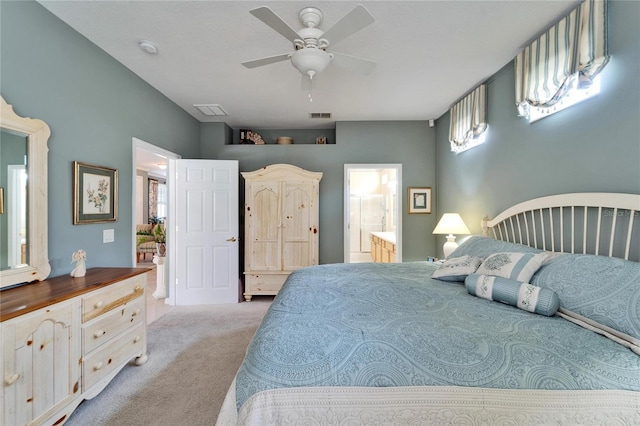
[[[640,193],[640,3],[609,6],[612,58],[595,99],[534,124],[515,116],[513,69],[489,83],[489,134],[478,148],[449,151],[448,114],[422,121],[339,122],[331,145],[230,145],[234,129],[201,124],[36,2],[0,2],[0,90],[18,114],[51,127],[49,257],[52,276],[131,262],[132,143],[136,137],[184,158],[238,159],[242,171],[291,163],[324,173],[320,261],[343,259],[343,165],[402,163],[404,260],[441,250],[431,230],[447,211],[473,232],[479,219],[536,196],[574,191]],[[237,129],[235,129],[237,130]],[[119,171],[119,220],[72,225],[72,162]],[[437,165],[437,170],[436,170]],[[437,185],[437,186],[436,186]],[[434,214],[408,215],[406,188],[434,188]],[[436,213],[437,212],[437,213]],[[102,243],[113,228],[115,242]],[[441,255],[441,253],[439,253]]]

